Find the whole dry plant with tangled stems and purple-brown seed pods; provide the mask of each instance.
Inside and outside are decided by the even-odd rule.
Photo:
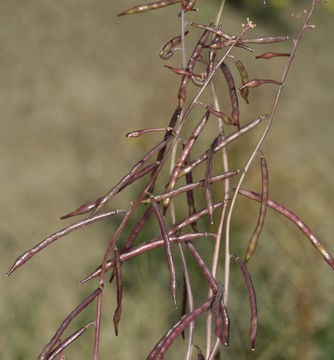
[[[100,347],[102,298],[104,291],[107,291],[107,289],[110,288],[104,287],[106,272],[110,270],[112,277],[116,277],[117,307],[114,313],[114,327],[115,333],[117,335],[122,311],[123,280],[121,267],[124,269],[124,266],[128,265],[128,260],[144,253],[149,252],[150,255],[154,256],[154,251],[151,250],[159,247],[164,247],[166,252],[166,263],[170,273],[170,288],[172,299],[174,305],[176,306],[178,300],[176,293],[176,272],[178,271],[178,267],[174,264],[174,259],[172,256],[172,244],[176,244],[179,248],[182,257],[183,274],[185,279],[183,286],[181,318],[165,333],[164,336],[162,336],[160,341],[158,341],[151,353],[148,355],[147,359],[163,359],[169,347],[181,334],[188,337],[187,355],[185,357],[186,360],[190,360],[191,351],[194,348],[197,349],[198,360],[203,360],[204,358],[208,358],[210,360],[213,358],[219,359],[220,355],[219,351],[217,351],[219,342],[223,343],[225,346],[229,346],[230,341],[230,322],[227,312],[227,304],[230,283],[231,256],[235,258],[247,284],[251,308],[250,340],[251,347],[254,349],[255,338],[257,335],[257,307],[254,287],[247,270],[246,263],[252,256],[258,242],[265,220],[266,208],[268,206],[280,212],[295,225],[297,225],[308,237],[312,245],[321,253],[325,261],[332,268],[334,268],[334,259],[332,255],[325,249],[320,240],[311,232],[306,224],[291,211],[268,199],[268,169],[263,156],[261,156],[261,194],[256,194],[249,190],[241,189],[241,185],[245,176],[247,175],[247,171],[256,154],[260,148],[262,148],[262,143],[266,138],[267,133],[271,129],[273,118],[278,106],[277,104],[284,89],[283,85],[286,82],[288,72],[295,58],[295,54],[300,44],[302,35],[307,29],[314,28],[313,25],[309,24],[309,21],[316,5],[319,2],[320,0],[312,0],[312,7],[309,11],[305,12],[306,19],[301,25],[296,39],[292,40],[291,51],[289,51],[289,53],[265,52],[262,55],[256,56],[257,59],[287,57],[286,67],[282,73],[282,78],[280,81],[262,78],[249,80],[249,76],[246,71],[249,63],[248,60],[245,63],[242,57],[242,54],[245,51],[254,52],[254,50],[250,48],[249,45],[254,45],[255,47],[257,44],[266,45],[289,40],[287,36],[260,36],[256,38],[248,38],[248,32],[255,27],[255,24],[253,24],[249,19],[247,19],[245,24],[242,24],[242,29],[238,35],[230,34],[228,29],[226,31],[225,25],[223,29],[223,25],[219,24],[220,15],[218,15],[216,21],[210,25],[200,25],[192,21],[186,22],[185,13],[196,10],[194,8],[194,0],[156,1],[132,7],[131,9],[119,14],[119,16],[136,14],[149,10],[164,8],[173,4],[178,4],[177,12],[180,12],[179,20],[181,26],[177,33],[182,35],[176,36],[169,40],[159,53],[163,60],[168,60],[171,58],[173,51],[176,50],[177,47],[179,47],[181,50],[181,64],[173,64],[173,66],[165,65],[165,67],[174,73],[181,75],[180,85],[175,94],[176,107],[167,121],[162,123],[162,126],[156,127],[156,124],[152,124],[152,127],[147,129],[140,129],[127,133],[126,137],[128,138],[137,138],[143,134],[148,133],[163,133],[163,136],[161,136],[162,139],[158,143],[153,143],[153,137],[147,137],[148,141],[152,141],[150,150],[144,154],[144,156],[139,158],[139,160],[129,169],[129,171],[123,177],[121,177],[119,182],[116,183],[116,185],[113,186],[105,195],[100,196],[94,201],[87,202],[79,206],[76,210],[61,217],[61,219],[67,219],[89,213],[87,218],[74,222],[62,230],[48,236],[45,240],[19,256],[11,269],[8,271],[8,275],[10,275],[14,270],[26,263],[35,254],[74,230],[77,230],[86,225],[90,225],[96,221],[109,218],[116,214],[122,213],[124,215],[120,224],[116,224],[116,222],[112,224],[114,227],[114,232],[111,236],[111,240],[109,241],[108,246],[106,247],[103,259],[98,262],[98,264],[101,265],[81,281],[82,284],[97,278],[97,289],[92,292],[85,300],[83,300],[81,304],[78,305],[70,313],[70,315],[65,318],[56,331],[55,335],[52,337],[51,341],[45,345],[41,355],[39,356],[39,360],[50,360],[56,358],[57,356],[64,358],[65,348],[79,339],[80,336],[86,331],[87,327],[91,324],[95,324],[93,360],[98,360]],[[205,6],[204,3],[203,6]],[[263,3],[265,4],[265,1]],[[220,10],[222,9],[223,6]],[[220,10],[218,11],[218,14],[221,12]],[[190,15],[191,14],[187,14],[187,17]],[[194,29],[195,31],[190,34],[189,31],[185,29],[187,25],[191,25],[200,30]],[[187,58],[187,52],[185,51],[185,36],[189,34],[186,38],[188,42],[188,38],[190,36],[197,36],[196,33],[198,31],[201,33],[197,38],[192,39],[194,40],[193,44],[195,44],[195,46],[192,50],[190,49],[190,56]],[[138,36],[138,39],[140,40],[141,37]],[[236,48],[238,51],[238,57],[234,54],[234,50],[236,50]],[[240,94],[236,91],[232,73],[228,65],[226,65],[227,61],[229,61],[229,58],[234,61],[241,78],[242,85],[239,89]],[[252,59],[250,61],[255,60]],[[198,68],[200,66],[204,66],[206,69],[203,73],[197,74],[194,70],[196,66]],[[227,82],[228,91],[225,91],[222,94],[216,94],[215,82],[222,80],[221,76],[216,76],[220,72],[220,69],[222,70],[225,81]],[[199,71],[197,72],[199,73]],[[170,76],[173,75],[170,74]],[[263,74],[263,77],[266,77],[265,74]],[[199,87],[194,88],[191,83]],[[273,105],[269,114],[261,115],[263,112],[258,111],[258,117],[252,121],[249,121],[247,114],[241,117],[239,112],[238,96],[241,95],[246,103],[248,103],[249,88],[257,87],[265,83],[279,85],[277,88],[276,98],[273,101]],[[196,95],[193,98],[191,98],[192,91],[188,91],[188,86],[190,86],[192,90],[196,92]],[[210,88],[212,91],[212,99],[207,100],[206,98],[205,100],[202,100],[202,94],[205,92],[205,95],[207,96],[209,94],[208,90]],[[228,101],[231,102],[232,111],[230,116],[225,114],[224,109],[223,111],[220,110],[221,106],[219,104],[219,100],[221,97],[224,97],[225,103],[228,103]],[[202,115],[201,118],[197,117],[197,114],[195,111],[193,111],[197,104],[205,108],[205,114]],[[214,115],[218,118],[217,123],[219,132],[214,131],[210,134],[209,127],[206,126],[210,115]],[[240,125],[240,120],[243,124],[245,124],[244,126]],[[159,118],[159,122],[160,121],[161,120]],[[260,123],[262,123],[263,126],[258,126]],[[185,126],[185,124],[187,124],[187,126]],[[231,129],[231,127],[228,127],[230,125],[235,125],[237,129]],[[232,157],[233,154],[231,151],[233,149],[230,149],[230,147],[227,147],[227,145],[229,145],[231,142],[235,142],[236,140],[238,140],[237,144],[241,144],[243,141],[241,140],[242,136],[255,128],[257,128],[257,131],[262,132],[262,135],[259,137],[259,140],[255,145],[255,149],[251,153],[246,166],[243,170],[231,171],[228,165],[228,158],[230,155]],[[180,152],[177,152],[176,147],[180,141],[183,144],[183,148]],[[222,173],[221,170],[217,170],[221,169],[221,164],[216,166],[216,161],[213,161],[214,154],[221,150],[224,173]],[[152,161],[153,156],[155,159]],[[166,168],[169,162],[172,164],[172,166],[170,166],[171,170],[169,173],[167,173]],[[205,168],[205,176],[202,180],[197,180],[196,176],[201,171],[201,169],[199,169],[200,164],[203,164],[203,168]],[[213,173],[218,173],[219,175],[212,176]],[[183,176],[185,177],[185,180],[181,179]],[[237,191],[235,191],[232,199],[229,199],[230,185],[227,181],[227,179],[230,178],[231,182],[237,182]],[[141,179],[141,181],[137,182],[139,179]],[[182,181],[183,183],[178,184],[177,187],[177,182]],[[142,182],[144,182],[144,185],[142,185]],[[166,183],[167,185],[164,187]],[[211,192],[211,185],[217,183],[219,183],[221,188],[224,189],[222,191],[225,201],[219,201],[217,199],[217,196],[219,196],[218,192]],[[131,187],[132,189],[134,189],[137,184],[140,184],[142,187],[137,187],[136,191],[132,191],[133,194],[139,191],[139,195],[134,197],[130,204],[126,205],[126,210],[113,210],[104,213],[99,212],[102,207],[109,203],[111,199],[113,199],[116,195],[132,184],[134,184],[134,186]],[[241,261],[238,256],[231,255],[229,251],[232,211],[238,194],[244,195],[261,203],[257,226],[250,239],[248,250],[246,251],[245,262]],[[173,203],[174,206],[169,206],[172,199],[175,200]],[[202,209],[197,211],[195,203],[196,207],[202,207]],[[184,206],[180,206],[180,209],[175,211],[176,204],[177,206],[179,206],[179,204]],[[159,210],[159,206],[163,207],[162,213]],[[207,223],[207,220],[212,223],[214,212],[220,208],[222,208],[222,210],[219,226],[213,232],[206,233],[205,224]],[[157,218],[160,232],[156,232],[154,235],[148,238],[148,233],[145,233],[144,229],[145,225],[149,224],[151,215],[153,213]],[[169,225],[169,219],[171,219],[171,225]],[[223,225],[225,226],[225,233],[222,231]],[[154,230],[155,229],[153,229],[153,231]],[[142,236],[139,237],[139,234]],[[140,240],[141,238],[144,238],[145,240]],[[136,246],[134,246],[135,241]],[[199,241],[202,242],[203,247],[209,245],[209,248],[214,249],[212,252],[212,262],[211,259],[207,259],[207,254],[203,256],[201,251],[197,250],[195,245],[197,245],[196,243]],[[210,243],[214,243],[208,244],[208,241]],[[220,275],[216,275],[217,271],[214,266],[216,262],[218,263],[218,261],[221,261],[220,248],[222,247],[221,242],[223,241],[225,241],[225,244],[223,244],[223,247],[225,248],[224,285],[219,280]],[[196,296],[197,294],[193,291],[191,286],[191,272],[193,271],[193,267],[188,268],[181,243],[184,243],[187,248],[187,256],[190,256],[195,260],[193,266],[197,267],[203,274],[206,285],[210,290],[205,301],[203,302],[202,300],[202,304],[200,306],[196,305],[197,307],[193,306],[193,303],[198,302]],[[120,246],[120,244],[122,245]],[[79,250],[80,247],[78,248],[78,251]],[[208,267],[209,263],[213,264],[212,270],[210,270]],[[178,264],[176,263],[176,265]],[[195,296],[193,296],[193,294]],[[189,297],[188,313],[186,307],[187,296]],[[69,335],[64,341],[61,341],[60,338],[63,336],[64,331],[68,328],[72,320],[75,319],[95,299],[95,321],[84,325],[79,330]],[[208,314],[206,334],[205,336],[202,334],[202,337],[206,338],[205,356],[202,354],[199,347],[193,345],[193,333],[195,326],[194,322],[197,317],[203,313]],[[190,326],[189,332],[185,334],[184,330],[188,326]],[[215,329],[214,334],[212,334],[212,329]],[[216,338],[216,345],[213,345],[213,337]]]

